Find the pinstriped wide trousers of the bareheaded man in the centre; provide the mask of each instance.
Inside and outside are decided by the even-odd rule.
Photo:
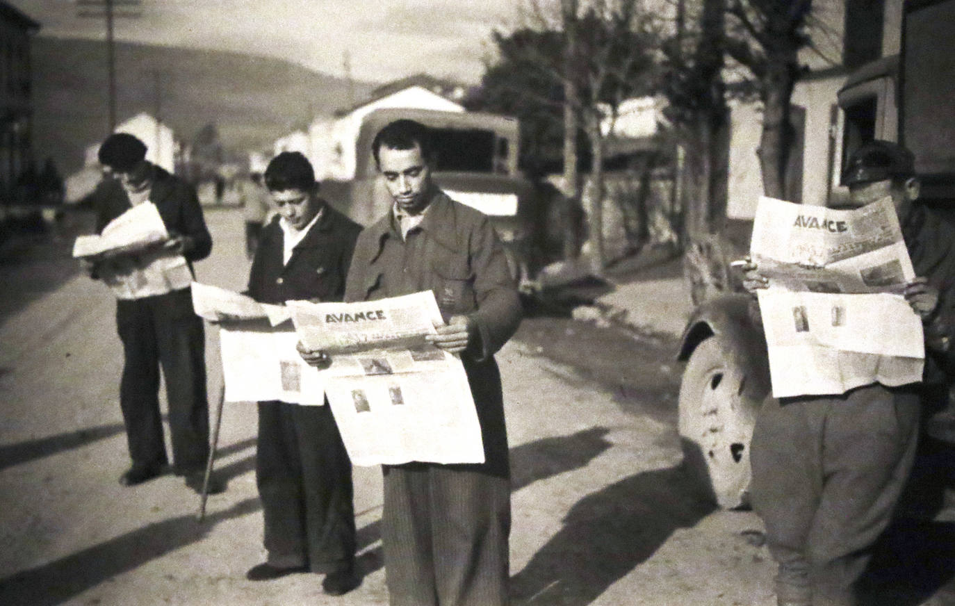
[[[508,603],[510,478],[486,468],[384,468],[382,541],[392,606]]]

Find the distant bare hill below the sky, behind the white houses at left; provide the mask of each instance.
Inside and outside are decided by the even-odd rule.
[[[106,45],[38,36],[32,60],[37,161],[53,157],[61,172],[73,172],[86,146],[107,134]],[[143,111],[155,115],[159,77],[161,115],[176,136],[189,141],[215,122],[223,145],[237,153],[352,101],[344,78],[259,55],[117,43],[116,65],[117,122]],[[355,97],[374,86],[355,83]]]

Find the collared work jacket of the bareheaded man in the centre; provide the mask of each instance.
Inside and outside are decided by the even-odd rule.
[[[401,239],[389,212],[362,232],[349,269],[345,300],[373,301],[432,290],[447,321],[467,315],[479,339],[462,353],[477,407],[488,473],[506,476],[507,433],[494,353],[520,324],[517,285],[491,222],[435,191],[419,228]]]

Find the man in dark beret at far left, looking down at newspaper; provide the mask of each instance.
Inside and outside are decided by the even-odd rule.
[[[124,363],[119,407],[132,465],[120,477],[135,486],[163,473],[168,458],[159,412],[159,366],[169,401],[173,471],[202,490],[209,449],[202,320],[192,307],[192,262],[212,250],[195,189],[147,161],[146,146],[125,133],[99,148],[105,177],[96,189],[96,232],[138,204],[152,202],[170,239],[135,254],[86,262],[91,277],[117,296],[117,332]],[[212,478],[209,491],[222,491]]]

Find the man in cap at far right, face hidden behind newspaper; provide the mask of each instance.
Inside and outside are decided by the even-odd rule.
[[[922,408],[938,404],[951,367],[955,229],[916,201],[914,157],[895,143],[871,141],[849,158],[842,182],[849,207],[886,197],[895,205],[919,276],[902,294],[922,318],[925,369],[922,383],[763,404],[750,447],[751,491],[779,564],[780,606],[858,603],[856,582],[912,469]],[[765,288],[758,269],[747,269],[744,286]]]

